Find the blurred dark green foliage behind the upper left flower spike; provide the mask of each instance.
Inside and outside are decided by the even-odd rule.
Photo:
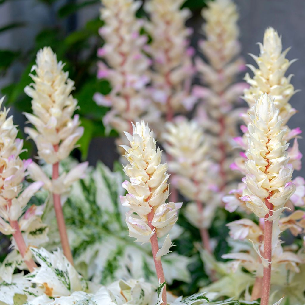
[[[0,0],[0,9],[1,5],[9,1],[14,2],[15,0]],[[58,59],[66,63],[65,70],[69,71],[69,77],[75,81],[73,95],[78,100],[77,113],[80,115],[85,132],[78,143],[79,148],[74,151],[74,156],[79,160],[86,160],[93,138],[116,136],[115,131],[111,131],[110,135],[105,135],[101,119],[108,109],[97,106],[92,100],[95,92],[107,94],[111,89],[106,80],[96,78],[96,63],[98,61],[96,52],[103,43],[98,34],[98,29],[103,25],[103,21],[99,18],[101,1],[35,0],[34,2],[45,5],[45,9],[52,14],[52,25],[38,25],[38,34],[36,34],[34,44],[29,49],[0,49],[0,77],[5,77],[10,70],[14,69],[14,66],[18,66],[20,71],[18,75],[13,77],[11,83],[6,84],[1,89],[1,95],[6,95],[6,106],[13,106],[14,110],[18,112],[31,112],[30,98],[24,94],[23,90],[31,82],[29,73],[34,64],[36,53],[40,48],[50,46],[56,52]],[[196,14],[200,13],[200,9],[204,5],[205,0],[187,0],[182,6],[188,7]],[[80,26],[78,13],[88,7],[95,9],[96,16]],[[144,14],[140,8],[138,17],[142,17]],[[31,30],[27,22],[8,23],[0,28],[0,39],[2,34],[20,27],[23,30]],[[20,129],[23,129],[24,121],[22,119],[16,123],[20,125]],[[22,131],[20,131],[19,136],[20,138],[26,137]],[[31,140],[25,141],[25,148],[27,148],[27,152],[23,153],[23,158],[35,156],[34,143]]]

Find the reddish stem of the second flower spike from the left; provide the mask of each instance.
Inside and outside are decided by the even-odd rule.
[[[54,150],[58,150],[58,145],[54,145]],[[59,162],[53,164],[53,172],[52,172],[52,180],[56,180],[59,177]],[[53,193],[53,204],[54,210],[56,214],[56,220],[58,225],[58,231],[60,235],[61,246],[63,248],[63,254],[69,260],[69,262],[74,265],[73,263],[73,256],[71,253],[65,218],[63,217],[63,209],[60,203],[60,195]]]

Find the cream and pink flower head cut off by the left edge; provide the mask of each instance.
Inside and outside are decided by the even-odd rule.
[[[0,107],[3,100],[0,100]],[[7,118],[7,113],[5,108],[0,111],[0,232],[10,235],[15,231],[11,227],[12,221],[20,218],[24,207],[43,183],[34,182],[22,191],[22,182],[32,160],[20,159],[23,141],[16,138],[18,130],[13,116]],[[26,226],[25,221],[23,223]]]

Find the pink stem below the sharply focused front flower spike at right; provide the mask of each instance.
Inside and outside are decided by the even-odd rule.
[[[262,283],[262,297],[260,305],[268,305],[270,295],[270,281],[271,281],[271,255],[272,255],[272,221],[267,220],[269,215],[273,214],[273,205],[265,199],[265,203],[269,209],[269,213],[265,215],[265,230],[264,230],[264,255],[268,260],[268,267],[264,267],[263,283]]]

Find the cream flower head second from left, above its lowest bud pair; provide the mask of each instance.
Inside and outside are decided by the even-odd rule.
[[[71,95],[74,81],[63,66],[51,48],[41,49],[32,67],[36,75],[30,74],[33,83],[24,89],[32,98],[33,109],[33,114],[25,116],[35,127],[24,130],[34,140],[38,156],[50,164],[69,156],[84,132],[78,115],[72,117],[77,107],[77,100]]]

